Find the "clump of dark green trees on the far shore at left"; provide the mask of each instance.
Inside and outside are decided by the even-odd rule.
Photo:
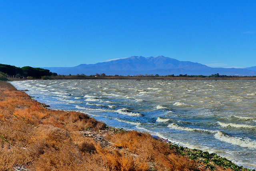
[[[6,75],[6,78],[37,78],[40,79],[42,76],[57,76],[57,73],[52,73],[50,70],[43,68],[33,68],[30,66],[24,66],[22,68],[0,64],[0,72]]]

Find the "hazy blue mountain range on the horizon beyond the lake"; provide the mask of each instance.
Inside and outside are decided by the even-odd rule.
[[[80,64],[75,67],[50,67],[44,68],[60,75],[94,75],[96,73],[106,75],[134,76],[136,74],[159,74],[165,75],[204,75],[209,76],[219,73],[227,76],[256,76],[256,66],[250,68],[211,68],[203,64],[179,61],[164,56],[148,57],[132,56],[112,60],[109,62],[100,62],[97,64]]]

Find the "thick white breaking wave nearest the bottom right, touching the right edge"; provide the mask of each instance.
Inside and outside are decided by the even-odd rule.
[[[224,135],[221,131],[218,131],[214,137],[220,141],[230,143],[233,145],[238,145],[240,147],[248,147],[256,149],[256,141],[250,138],[232,137],[229,135]]]

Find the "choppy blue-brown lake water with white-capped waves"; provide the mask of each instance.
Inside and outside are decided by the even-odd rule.
[[[254,80],[29,80],[10,82],[52,109],[147,131],[256,169]]]

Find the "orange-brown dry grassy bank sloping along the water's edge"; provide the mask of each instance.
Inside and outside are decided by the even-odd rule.
[[[0,82],[0,170],[249,170],[216,154],[108,127],[90,116],[47,109]]]

